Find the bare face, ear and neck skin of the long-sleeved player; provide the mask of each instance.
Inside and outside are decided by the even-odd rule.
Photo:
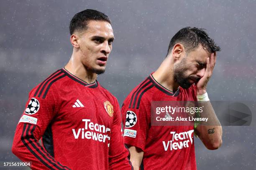
[[[70,37],[73,53],[65,69],[87,83],[95,82],[105,71],[114,39],[110,23],[88,21],[86,30],[76,30]]]

